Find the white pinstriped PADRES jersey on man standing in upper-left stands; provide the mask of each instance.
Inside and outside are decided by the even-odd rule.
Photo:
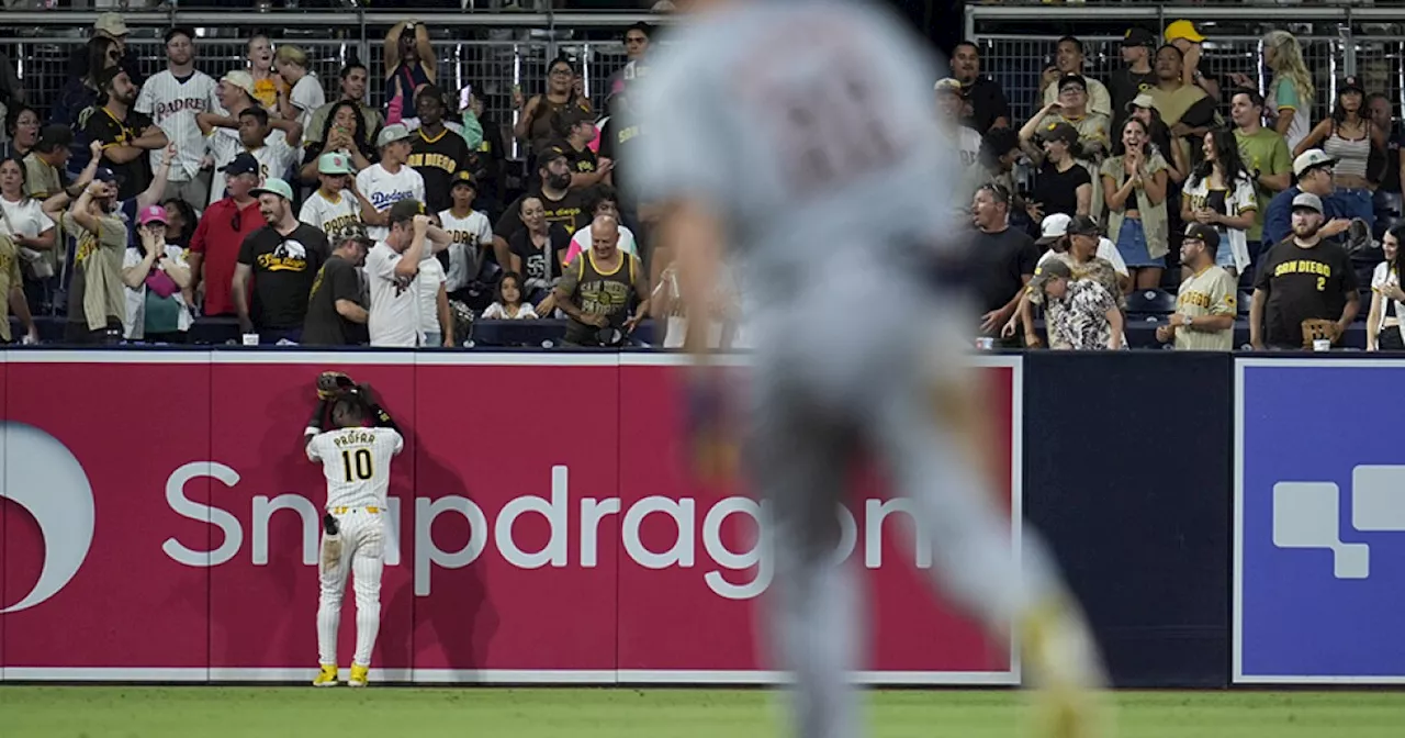
[[[176,162],[171,164],[171,181],[190,181],[200,174],[200,162],[205,157],[205,135],[195,125],[195,115],[219,107],[215,100],[215,80],[204,72],[192,72],[188,77],[177,77],[170,70],[153,75],[142,84],[136,96],[136,112],[152,117],[166,138],[176,143]],[[150,153],[152,171],[162,166],[166,149]]]

